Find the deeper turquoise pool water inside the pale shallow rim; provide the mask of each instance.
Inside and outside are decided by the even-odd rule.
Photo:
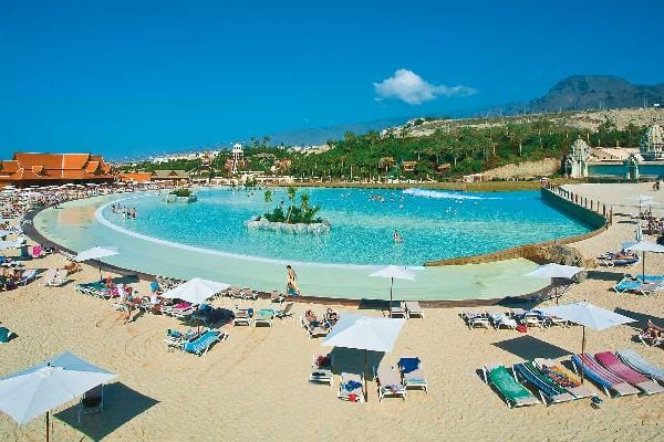
[[[546,204],[538,191],[459,193],[303,189],[332,228],[320,236],[248,230],[243,222],[271,203],[262,191],[204,189],[190,204],[166,204],[146,194],[121,202],[138,217],[104,218],[147,236],[235,254],[282,261],[422,265],[427,261],[487,253],[527,243],[580,234],[589,227]],[[395,244],[393,232],[404,239]]]

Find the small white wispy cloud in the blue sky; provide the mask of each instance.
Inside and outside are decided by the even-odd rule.
[[[477,92],[466,86],[433,85],[406,69],[396,70],[393,76],[373,85],[377,101],[397,98],[415,105],[439,96],[468,96]]]

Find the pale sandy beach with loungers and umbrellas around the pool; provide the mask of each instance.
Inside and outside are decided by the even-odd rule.
[[[631,187],[630,187],[631,186]],[[646,191],[626,185],[626,196]],[[577,186],[574,192],[623,204],[611,187]],[[585,192],[585,193],[584,193]],[[664,193],[663,193],[664,194]],[[664,202],[664,198],[663,198]],[[585,257],[616,250],[631,240],[635,223],[616,215],[598,236],[572,244]],[[653,240],[652,236],[647,236]],[[27,262],[27,267],[49,269],[63,263],[60,255]],[[662,293],[651,296],[616,294],[611,286],[624,270],[594,269],[561,302],[588,301],[639,319],[632,326],[588,332],[588,352],[632,348],[664,367],[661,348],[634,340],[635,327],[653,318],[664,324]],[[632,273],[641,272],[640,265]],[[664,259],[647,256],[646,272],[664,274]],[[651,441],[664,431],[664,394],[610,399],[599,410],[590,400],[544,407],[508,409],[484,383],[485,364],[510,365],[535,357],[569,360],[581,350],[581,327],[513,330],[468,329],[461,308],[426,309],[426,318],[407,320],[392,354],[372,355],[395,364],[401,356],[418,356],[429,383],[428,394],[412,390],[407,400],[378,402],[375,382],[369,382],[369,402],[349,403],[336,398],[334,387],[308,382],[313,354],[331,351],[322,339],[309,339],[298,316],[330,306],[342,315],[347,307],[297,304],[294,320],[277,320],[272,328],[222,327],[230,337],[201,357],[168,351],[162,343],[166,329],[186,329],[167,316],[142,315],[123,325],[111,302],[82,295],[75,282],[90,282],[98,271],[84,265],[63,287],[44,287],[39,280],[25,287],[0,293],[0,320],[18,337],[0,346],[0,376],[42,361],[64,350],[118,375],[105,388],[103,413],[84,415],[77,423],[77,403],[54,410],[54,441],[403,441],[403,440],[527,440],[527,441]],[[137,286],[148,293],[148,283]],[[219,298],[215,306],[267,306],[264,299],[237,302]],[[549,302],[547,305],[550,305]],[[508,307],[475,309],[507,312]],[[374,309],[361,314],[382,315]],[[335,372],[362,370],[360,351],[334,349]],[[593,387],[595,388],[595,387]],[[18,425],[0,414],[0,440],[40,441],[44,419]]]

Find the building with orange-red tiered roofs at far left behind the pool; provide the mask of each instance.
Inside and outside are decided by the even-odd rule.
[[[15,152],[0,161],[0,186],[62,185],[65,182],[112,182],[111,166],[98,155]]]

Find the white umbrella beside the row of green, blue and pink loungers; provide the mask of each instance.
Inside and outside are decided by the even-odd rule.
[[[585,352],[585,327],[593,330],[604,330],[636,320],[585,302],[557,305],[554,307],[542,308],[541,312],[544,315],[558,316],[559,318],[582,326],[581,354]],[[581,381],[583,381],[583,359],[581,359]]]

